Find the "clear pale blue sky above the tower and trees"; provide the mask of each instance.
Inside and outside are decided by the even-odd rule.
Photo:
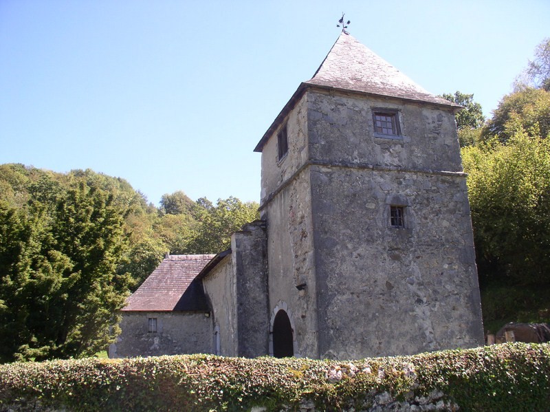
[[[488,116],[550,1],[0,0],[0,164],[123,177],[157,204],[259,200],[252,150],[340,30]]]

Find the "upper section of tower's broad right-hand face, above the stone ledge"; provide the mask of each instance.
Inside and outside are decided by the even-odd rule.
[[[395,109],[401,139],[377,138],[373,109]],[[452,111],[391,98],[308,92],[309,160],[408,171],[462,171]]]

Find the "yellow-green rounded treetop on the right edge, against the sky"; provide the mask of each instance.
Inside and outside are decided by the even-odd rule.
[[[526,87],[514,91],[493,111],[481,133],[482,140],[498,138],[507,142],[511,136],[525,133],[531,137],[547,138],[550,133],[550,92]]]

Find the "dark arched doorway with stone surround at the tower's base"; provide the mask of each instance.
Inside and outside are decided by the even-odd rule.
[[[270,356],[300,357],[292,311],[284,301],[278,301],[270,321]]]

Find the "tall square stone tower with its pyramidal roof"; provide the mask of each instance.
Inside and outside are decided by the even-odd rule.
[[[483,344],[454,113],[342,32],[262,153],[270,353]]]

